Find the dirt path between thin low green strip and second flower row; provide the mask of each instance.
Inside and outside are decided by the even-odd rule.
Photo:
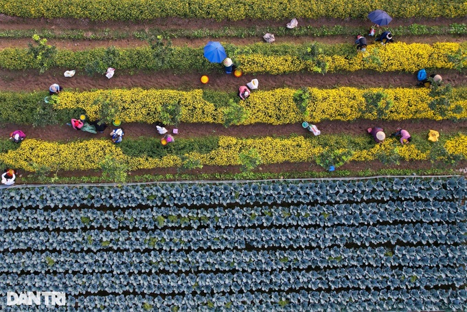
[[[396,37],[395,37],[396,38]],[[317,41],[319,43],[353,43],[353,36],[275,36],[275,43],[310,43]],[[467,41],[466,36],[403,36],[396,38],[398,42],[405,43],[438,43],[438,42],[451,42],[463,43]],[[260,36],[237,38],[237,37],[221,37],[221,38],[174,38],[172,44],[175,46],[187,47],[203,47],[208,41],[220,41],[223,43],[231,43],[234,45],[252,45],[253,43],[264,43]],[[0,49],[6,47],[27,47],[28,43],[32,43],[30,38],[19,39],[2,39],[0,41]],[[146,41],[141,41],[135,38],[127,38],[122,40],[65,40],[65,39],[51,39],[48,41],[50,45],[55,45],[59,49],[71,49],[72,51],[93,49],[95,47],[145,47],[148,46]]]

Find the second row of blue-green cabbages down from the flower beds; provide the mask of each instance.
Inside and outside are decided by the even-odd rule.
[[[301,195],[301,202],[308,202]],[[363,197],[365,199],[365,196]],[[112,230],[156,230],[163,227],[197,229],[220,227],[289,227],[359,225],[380,222],[462,222],[464,205],[454,201],[389,201],[387,203],[344,203],[337,205],[276,206],[235,208],[148,208],[128,210],[0,210],[0,230],[67,231],[90,227]]]

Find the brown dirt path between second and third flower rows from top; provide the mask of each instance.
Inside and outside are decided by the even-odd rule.
[[[209,75],[209,83],[200,82],[201,74],[174,74],[173,72],[115,71],[115,76],[107,79],[105,76],[89,77],[78,73],[72,78],[66,78],[66,69],[54,69],[45,74],[38,74],[37,70],[8,71],[0,69],[0,90],[3,91],[34,91],[47,90],[52,83],[58,83],[65,89],[113,89],[113,88],[155,88],[155,89],[212,89],[225,92],[236,92],[240,85],[259,80],[262,90],[280,87],[414,87],[417,79],[415,74],[400,74],[396,72],[376,73],[374,71],[356,71],[331,73],[326,75],[315,73],[299,73],[288,75],[246,74],[240,78],[221,73],[203,73]],[[452,70],[438,71],[444,81],[453,86],[467,86],[467,76]]]

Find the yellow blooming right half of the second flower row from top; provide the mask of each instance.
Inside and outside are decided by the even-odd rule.
[[[456,58],[456,54],[458,54],[457,60],[450,59],[450,57]],[[293,55],[240,54],[236,56],[235,60],[240,64],[240,69],[248,74],[322,72],[323,68],[321,67],[325,65],[320,67],[319,62],[326,64],[328,72],[361,69],[413,72],[421,68],[466,67],[466,56],[467,51],[458,43],[434,43],[433,45],[392,43],[384,46],[368,45],[365,53],[356,53],[350,57],[348,55],[319,55],[319,53],[314,56],[315,59],[307,55],[297,57]]]

